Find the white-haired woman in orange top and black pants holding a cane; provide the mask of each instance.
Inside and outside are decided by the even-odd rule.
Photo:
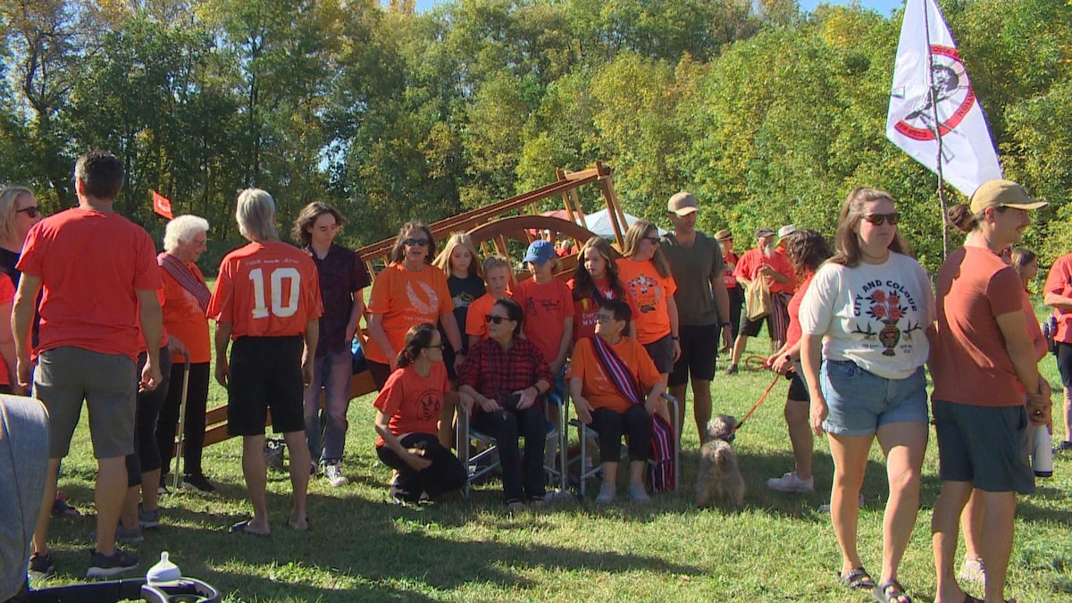
[[[205,444],[205,407],[208,403],[208,381],[211,373],[212,345],[205,311],[211,293],[197,259],[208,242],[208,221],[197,216],[179,216],[164,227],[164,252],[157,256],[164,279],[164,328],[185,345],[190,354],[190,377],[187,385],[187,415],[183,426],[182,487],[212,495],[215,487],[202,470]],[[157,424],[157,445],[163,459],[164,473],[160,485],[166,488],[167,469],[175,454],[175,428],[182,405],[182,371],[185,358],[172,355],[170,382],[167,399],[160,409]],[[150,513],[151,514],[151,513]]]

